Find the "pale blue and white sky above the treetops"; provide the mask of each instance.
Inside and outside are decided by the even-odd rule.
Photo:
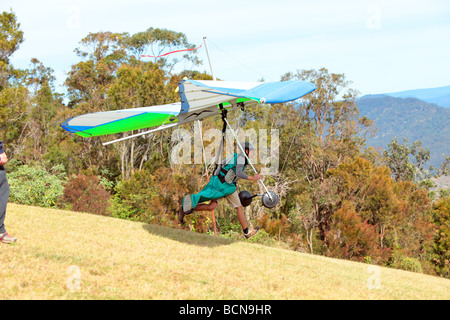
[[[210,73],[206,37],[215,76],[227,81],[325,67],[360,95],[450,85],[448,0],[2,0],[0,9],[12,9],[24,32],[13,65],[39,59],[60,92],[88,33],[149,27],[202,45],[194,69]]]

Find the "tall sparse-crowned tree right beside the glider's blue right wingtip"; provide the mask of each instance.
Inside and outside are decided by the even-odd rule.
[[[293,106],[285,120],[288,123],[281,127],[285,139],[281,145],[286,146],[280,150],[280,154],[286,155],[282,170],[304,181],[302,192],[310,198],[313,210],[308,225],[317,226],[323,240],[332,214],[332,199],[327,190],[332,186],[325,182],[326,172],[359,153],[364,141],[357,133],[361,126],[370,126],[370,122],[359,117],[357,91],[350,88],[344,74],[329,73],[322,68],[282,77],[291,79],[311,81],[316,90]]]

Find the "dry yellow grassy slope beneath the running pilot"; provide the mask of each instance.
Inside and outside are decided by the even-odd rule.
[[[6,225],[0,299],[450,299],[448,279],[109,217],[9,204]]]

